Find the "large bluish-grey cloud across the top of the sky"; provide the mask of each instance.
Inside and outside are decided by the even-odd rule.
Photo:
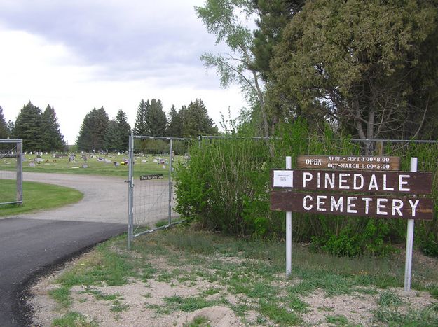
[[[199,67],[214,45],[193,9],[202,2],[18,0],[6,2],[0,21],[69,48],[82,64],[107,67],[112,78],[142,78],[162,67]]]

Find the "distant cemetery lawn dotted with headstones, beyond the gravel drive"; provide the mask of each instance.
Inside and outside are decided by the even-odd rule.
[[[104,160],[98,160],[98,158]],[[166,164],[160,165],[158,162],[153,162],[156,159],[164,159]],[[68,156],[63,158],[53,158],[52,155],[42,155],[41,162],[34,162],[36,155],[25,155],[25,161],[23,161],[23,172],[47,172],[47,173],[60,173],[60,174],[88,174],[88,175],[100,175],[100,176],[123,176],[128,177],[128,165],[122,165],[124,160],[128,159],[127,155],[96,155],[88,158],[86,161],[81,158],[81,155],[76,155],[74,161],[69,161]],[[0,170],[13,170],[15,165],[11,165],[11,160],[1,160]],[[107,160],[107,162],[105,162]],[[174,157],[174,165],[179,160],[184,160],[182,156]],[[146,162],[144,162],[146,161]],[[34,167],[29,166],[31,162],[34,162]],[[118,165],[114,165],[117,162]],[[143,174],[163,174],[167,176],[169,174],[169,156],[165,155],[136,155],[135,156],[135,177]],[[32,164],[33,165],[33,164]],[[83,168],[83,165],[87,165]]]

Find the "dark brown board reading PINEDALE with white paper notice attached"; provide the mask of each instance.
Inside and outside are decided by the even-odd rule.
[[[272,169],[271,187],[303,191],[430,194],[432,173]]]

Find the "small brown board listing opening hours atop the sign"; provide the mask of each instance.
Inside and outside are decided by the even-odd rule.
[[[301,169],[399,170],[399,157],[364,157],[355,155],[298,155]]]

